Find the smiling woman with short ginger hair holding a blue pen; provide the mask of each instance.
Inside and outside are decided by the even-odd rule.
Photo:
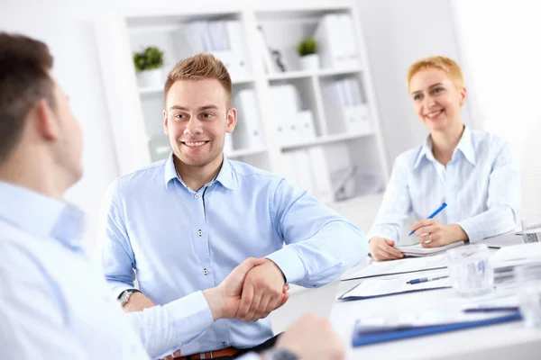
[[[376,260],[402,257],[394,245],[411,212],[423,247],[476,242],[515,228],[520,205],[518,168],[509,144],[464,126],[462,69],[451,58],[422,58],[409,67],[408,92],[426,142],[397,157],[380,211],[369,232]]]

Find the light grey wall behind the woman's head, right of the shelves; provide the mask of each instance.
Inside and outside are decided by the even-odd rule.
[[[406,89],[408,67],[419,58],[445,55],[462,65],[454,18],[447,0],[358,0],[368,58],[380,107],[389,165],[402,151],[417,146],[428,131],[413,112]],[[466,65],[467,67],[467,65]],[[474,89],[466,84],[470,94]],[[470,96],[463,121],[470,121]]]

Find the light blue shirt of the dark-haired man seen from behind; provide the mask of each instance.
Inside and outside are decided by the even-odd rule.
[[[79,246],[79,211],[5,182],[0,199],[0,359],[148,359],[212,324],[201,292],[125,314]]]

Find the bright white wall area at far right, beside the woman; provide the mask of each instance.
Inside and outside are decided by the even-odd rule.
[[[509,140],[522,167],[522,211],[541,216],[541,4],[454,1],[483,127]],[[482,19],[482,26],[480,26]]]

